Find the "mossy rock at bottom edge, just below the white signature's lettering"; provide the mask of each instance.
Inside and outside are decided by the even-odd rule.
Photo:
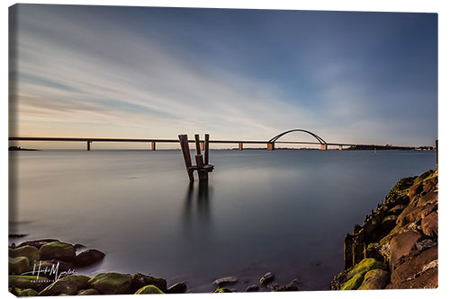
[[[89,279],[91,279],[91,277],[86,277],[85,275],[69,275],[67,277],[59,278],[53,284],[44,288],[39,295],[76,295],[78,291],[87,287],[87,281],[89,281]]]

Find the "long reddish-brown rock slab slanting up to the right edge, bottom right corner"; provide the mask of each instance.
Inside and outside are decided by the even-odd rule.
[[[437,246],[422,251],[417,256],[408,257],[392,271],[392,284],[401,283],[415,277],[428,263],[437,259]]]

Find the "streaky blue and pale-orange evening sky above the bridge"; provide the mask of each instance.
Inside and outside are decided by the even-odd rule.
[[[437,139],[436,13],[19,4],[10,31],[10,136]]]

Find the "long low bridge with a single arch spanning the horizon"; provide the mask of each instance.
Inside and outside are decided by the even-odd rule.
[[[317,141],[316,142],[307,142],[307,141],[283,141],[279,140],[283,136],[287,136],[294,132],[306,133],[307,135],[313,136]],[[10,136],[8,138],[9,141],[57,141],[57,142],[84,142],[86,144],[86,150],[91,150],[92,143],[148,143],[151,145],[151,150],[155,151],[157,149],[158,144],[170,144],[170,143],[179,143],[178,139],[155,139],[155,138],[138,138],[138,139],[130,139],[130,138],[89,138],[89,137],[27,137],[27,136]],[[188,143],[195,143],[195,140],[190,139],[187,141]],[[202,150],[204,148],[204,140],[200,140],[202,145]],[[285,131],[283,133],[274,136],[269,140],[209,140],[210,144],[235,144],[238,145],[238,150],[242,151],[244,149],[244,145],[266,145],[267,150],[273,151],[275,150],[276,144],[285,144],[285,145],[320,145],[320,150],[326,151],[329,148],[329,145],[337,145],[338,150],[342,150],[343,146],[352,146],[359,144],[347,144],[347,143],[327,143],[322,137],[318,136],[311,131],[296,128],[292,130]],[[383,145],[359,145],[359,146],[378,146],[382,147]]]

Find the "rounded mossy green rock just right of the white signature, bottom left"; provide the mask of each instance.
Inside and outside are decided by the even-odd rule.
[[[131,277],[121,273],[100,273],[92,277],[88,282],[89,288],[94,288],[102,295],[130,294]]]

